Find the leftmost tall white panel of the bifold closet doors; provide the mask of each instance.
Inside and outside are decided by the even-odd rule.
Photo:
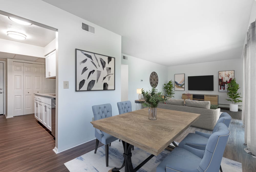
[[[13,116],[23,115],[23,63],[13,62]]]

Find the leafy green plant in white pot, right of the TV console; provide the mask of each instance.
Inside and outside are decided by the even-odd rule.
[[[232,79],[230,81],[230,83],[227,83],[227,95],[229,97],[229,99],[226,99],[230,102],[232,102],[232,104],[230,103],[229,104],[229,110],[232,111],[232,112],[237,112],[238,111],[238,102],[242,102],[241,100],[239,100],[238,98],[242,98],[240,97],[240,94],[241,93],[238,93],[238,89],[240,88],[239,87],[239,84],[236,82],[236,78]]]

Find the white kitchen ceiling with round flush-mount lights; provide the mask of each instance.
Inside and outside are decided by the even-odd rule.
[[[27,39],[25,40],[13,39],[7,35],[6,33],[7,31],[15,31],[15,32],[23,33],[27,36]],[[30,26],[18,24],[10,20],[7,16],[0,14],[0,38],[1,39],[45,47],[52,40],[55,39],[55,36],[56,36],[55,31],[45,29],[40,26],[36,26],[34,24]]]

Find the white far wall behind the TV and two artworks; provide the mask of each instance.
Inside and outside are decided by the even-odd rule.
[[[243,92],[243,61],[242,59],[232,60],[221,60],[215,62],[195,63],[188,65],[169,66],[168,67],[168,81],[173,80],[174,74],[185,73],[185,91],[188,91],[188,76],[203,76],[203,75],[214,75],[214,91],[189,91],[191,94],[214,94],[219,95],[219,104],[228,104],[227,93],[219,92],[218,78],[219,71],[224,70],[235,70],[235,78],[239,86],[241,87],[238,91]],[[182,94],[185,91],[174,91],[174,99],[181,99]],[[242,97],[242,95],[241,95]],[[241,103],[240,103],[241,104]]]

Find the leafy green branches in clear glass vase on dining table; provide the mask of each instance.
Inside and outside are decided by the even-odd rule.
[[[142,89],[141,94],[145,99],[145,103],[143,103],[143,105],[148,107],[148,119],[156,120],[156,107],[159,102],[164,102],[166,100],[163,97],[163,93],[157,92],[157,89],[152,87],[152,89],[149,91]]]

